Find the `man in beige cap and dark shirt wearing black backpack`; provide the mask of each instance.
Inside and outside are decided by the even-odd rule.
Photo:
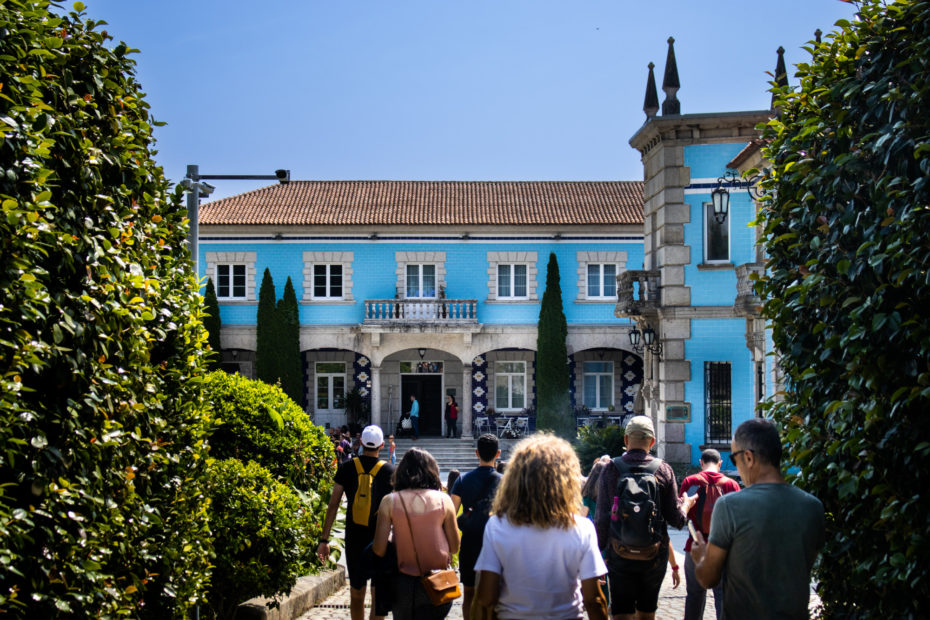
[[[675,472],[649,451],[655,428],[648,416],[626,425],[627,451],[601,473],[594,525],[606,550],[614,620],[652,620],[668,565],[667,525],[681,529],[695,498],[678,496]]]

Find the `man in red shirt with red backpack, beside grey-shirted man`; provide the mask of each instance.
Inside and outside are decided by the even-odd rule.
[[[688,476],[681,481],[681,494],[694,495],[697,500],[688,512],[688,520],[706,539],[710,533],[710,518],[717,500],[727,494],[739,491],[736,480],[720,473],[720,453],[708,448],[701,453],[701,472]],[[707,603],[707,590],[698,583],[694,575],[694,560],[691,558],[692,539],[689,536],[685,544],[685,585],[688,594],[685,598],[685,620],[701,620]],[[717,620],[723,613],[723,588],[714,587],[714,604]]]

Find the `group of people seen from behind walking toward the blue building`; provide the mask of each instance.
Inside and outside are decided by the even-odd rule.
[[[329,556],[345,494],[353,620],[363,618],[366,583],[379,562],[394,575],[376,581],[377,595],[372,583],[372,618],[388,610],[397,619],[444,618],[452,603],[434,605],[421,577],[447,569],[456,552],[465,618],[648,620],[669,566],[676,585],[680,579],[667,526],[681,529],[690,520],[686,618],[703,617],[707,589],[718,618],[807,617],[824,511],[782,478],[775,426],[753,419],[737,428],[730,458],[747,487],[741,491],[720,473],[716,450],[705,450],[702,471],[679,487],[671,466],[650,454],[655,441],[650,418],[629,421],[626,452],[598,459],[589,475],[589,519],[578,458],[553,435],[520,441],[503,474],[497,437],[482,435],[478,467],[450,480],[445,493],[425,450],[408,450],[396,469],[380,462],[383,435],[369,426],[358,462],[337,471],[318,553]],[[367,519],[356,514],[361,506]]]

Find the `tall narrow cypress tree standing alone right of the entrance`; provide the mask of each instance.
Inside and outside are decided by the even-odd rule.
[[[562,286],[555,253],[549,254],[546,290],[539,310],[536,339],[536,426],[575,439],[569,398],[568,324],[562,309]]]

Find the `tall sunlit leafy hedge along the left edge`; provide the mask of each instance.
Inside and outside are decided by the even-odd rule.
[[[183,617],[205,589],[201,300],[123,43],[0,3],[0,614]]]

